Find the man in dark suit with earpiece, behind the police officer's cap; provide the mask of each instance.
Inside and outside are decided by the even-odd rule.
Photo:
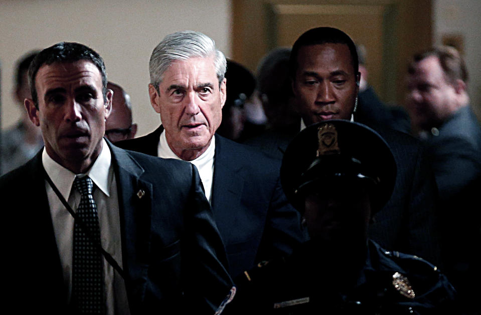
[[[338,29],[309,30],[292,47],[290,76],[301,121],[266,137],[262,146],[278,158],[282,158],[287,144],[305,126],[329,119],[353,119],[360,80],[356,47]],[[370,127],[387,141],[398,169],[394,193],[374,216],[376,223],[370,226],[370,237],[384,248],[415,254],[438,264],[435,186],[423,149],[407,134],[376,125]]]

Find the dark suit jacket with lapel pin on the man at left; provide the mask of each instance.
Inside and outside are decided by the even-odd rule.
[[[109,146],[130,312],[213,314],[232,282],[197,169]],[[44,178],[41,152],[0,178],[2,197],[15,205],[3,221],[10,237],[3,238],[9,292],[2,299],[18,313],[68,313]]]

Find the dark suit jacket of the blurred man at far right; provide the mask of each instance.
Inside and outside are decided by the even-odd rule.
[[[466,309],[481,312],[481,128],[469,106],[456,111],[426,140],[441,203],[441,232],[446,273]],[[474,205],[474,207],[473,207]],[[477,206],[476,206],[477,205]]]

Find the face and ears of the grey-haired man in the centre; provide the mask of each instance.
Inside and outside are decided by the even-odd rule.
[[[161,114],[167,143],[183,160],[199,157],[221,123],[226,100],[226,80],[219,87],[214,58],[174,61],[158,88],[149,85],[150,103]]]

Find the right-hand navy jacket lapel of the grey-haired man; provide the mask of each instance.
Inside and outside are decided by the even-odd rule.
[[[244,178],[238,162],[243,157],[235,155],[230,143],[221,136],[215,135],[216,148],[214,155],[214,179],[212,183],[212,209],[221,235],[229,235],[232,225],[223,224],[230,221],[231,211],[241,203]],[[220,223],[222,222],[222,224]],[[223,231],[224,229],[224,231]],[[227,242],[227,240],[226,240]]]

